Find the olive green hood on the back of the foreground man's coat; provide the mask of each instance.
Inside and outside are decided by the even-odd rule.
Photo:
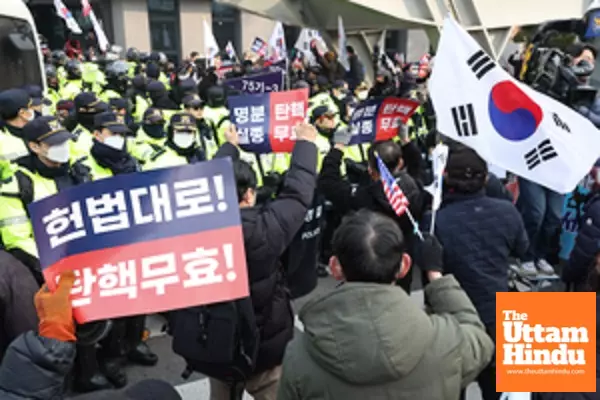
[[[428,348],[428,316],[400,287],[345,283],[300,311],[304,343],[321,367],[351,384],[408,375]]]

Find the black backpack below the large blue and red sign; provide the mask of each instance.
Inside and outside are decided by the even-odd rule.
[[[171,323],[173,351],[187,363],[183,379],[200,372],[235,384],[254,371],[260,338],[250,297],[177,310]]]

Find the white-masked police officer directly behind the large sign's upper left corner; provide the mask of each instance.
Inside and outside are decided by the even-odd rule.
[[[4,247],[31,270],[40,284],[38,262],[27,206],[61,190],[90,181],[81,163],[70,165],[73,135],[54,117],[40,117],[22,129],[29,153],[15,160],[14,175],[0,187],[0,234]]]

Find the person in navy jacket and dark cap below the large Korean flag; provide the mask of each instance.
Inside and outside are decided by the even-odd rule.
[[[529,243],[513,204],[485,195],[487,175],[487,163],[475,151],[451,147],[435,235],[444,246],[445,271],[456,277],[495,342],[496,293],[508,292],[510,257],[523,257]],[[494,363],[477,381],[484,400],[500,398]]]

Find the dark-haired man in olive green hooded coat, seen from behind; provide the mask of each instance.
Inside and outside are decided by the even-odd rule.
[[[428,315],[392,285],[410,268],[397,224],[369,211],[347,217],[330,267],[342,285],[306,304],[304,333],[288,345],[278,399],[457,400],[490,362],[494,344],[442,248],[422,243]]]

